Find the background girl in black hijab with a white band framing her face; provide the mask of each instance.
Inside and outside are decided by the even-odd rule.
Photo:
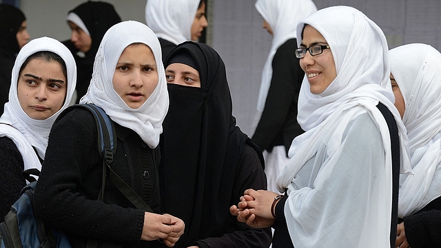
[[[63,41],[74,55],[77,68],[76,103],[88,91],[95,54],[105,32],[121,22],[121,17],[110,3],[87,1],[68,13],[68,25],[72,30],[70,40]]]

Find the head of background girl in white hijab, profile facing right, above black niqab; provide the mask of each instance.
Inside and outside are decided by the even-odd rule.
[[[158,37],[165,60],[176,45],[198,41],[207,28],[205,0],[147,0],[145,21]]]

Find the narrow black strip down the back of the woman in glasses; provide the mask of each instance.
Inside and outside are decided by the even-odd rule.
[[[398,188],[400,184],[400,137],[398,127],[392,113],[382,103],[378,103],[378,110],[384,116],[389,135],[391,136],[392,153],[392,216],[391,216],[391,247],[395,247],[398,223]]]

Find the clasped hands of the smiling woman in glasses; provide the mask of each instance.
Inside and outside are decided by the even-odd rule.
[[[271,227],[276,221],[271,214],[271,205],[278,194],[267,190],[245,190],[238,205],[229,207],[229,212],[237,220],[250,227]]]

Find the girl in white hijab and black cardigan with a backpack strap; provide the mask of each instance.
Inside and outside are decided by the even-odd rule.
[[[85,247],[90,238],[101,247],[156,247],[158,239],[172,247],[184,224],[157,214],[157,145],[168,94],[161,47],[150,28],[124,21],[107,30],[81,103],[93,103],[110,116],[117,138],[112,169],[154,213],[136,209],[110,180],[104,200],[96,200],[103,173],[96,125],[90,112],[74,108],[52,128],[35,189],[35,214],[64,231],[72,247]]]

